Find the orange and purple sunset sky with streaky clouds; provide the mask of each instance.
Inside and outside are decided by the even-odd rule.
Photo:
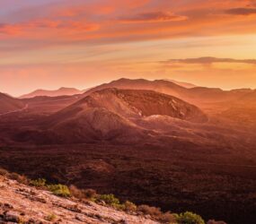
[[[0,91],[119,78],[256,89],[256,0],[0,0]]]

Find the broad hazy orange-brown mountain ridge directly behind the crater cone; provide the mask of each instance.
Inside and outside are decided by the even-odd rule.
[[[172,95],[179,99],[191,102],[197,106],[203,103],[216,103],[223,101],[236,100],[248,93],[248,90],[221,90],[217,88],[193,87],[185,88],[179,84],[166,81],[154,80],[148,81],[144,79],[129,80],[119,79],[110,83],[104,83],[91,90],[85,91],[84,96],[89,95],[93,91],[103,90],[106,88],[118,88],[129,90],[154,90],[164,94]]]

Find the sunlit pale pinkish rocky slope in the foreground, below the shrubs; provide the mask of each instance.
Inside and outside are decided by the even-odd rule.
[[[94,202],[57,197],[47,191],[0,176],[0,223],[127,223],[154,220],[116,211]]]

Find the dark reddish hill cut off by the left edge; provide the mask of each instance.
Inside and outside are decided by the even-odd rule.
[[[25,107],[25,104],[20,99],[14,99],[0,92],[0,115],[17,111]]]

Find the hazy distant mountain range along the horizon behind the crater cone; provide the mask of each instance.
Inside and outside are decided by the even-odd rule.
[[[193,104],[224,102],[243,98],[243,96],[253,94],[251,89],[221,90],[219,88],[199,87],[187,82],[177,82],[173,80],[154,80],[145,79],[119,79],[109,83],[103,83],[87,90],[77,90],[75,88],[60,88],[58,90],[35,90],[25,94],[20,99],[31,99],[34,97],[59,97],[72,95],[90,95],[93,91],[107,88],[128,89],[128,90],[154,90],[164,94],[189,101]]]

